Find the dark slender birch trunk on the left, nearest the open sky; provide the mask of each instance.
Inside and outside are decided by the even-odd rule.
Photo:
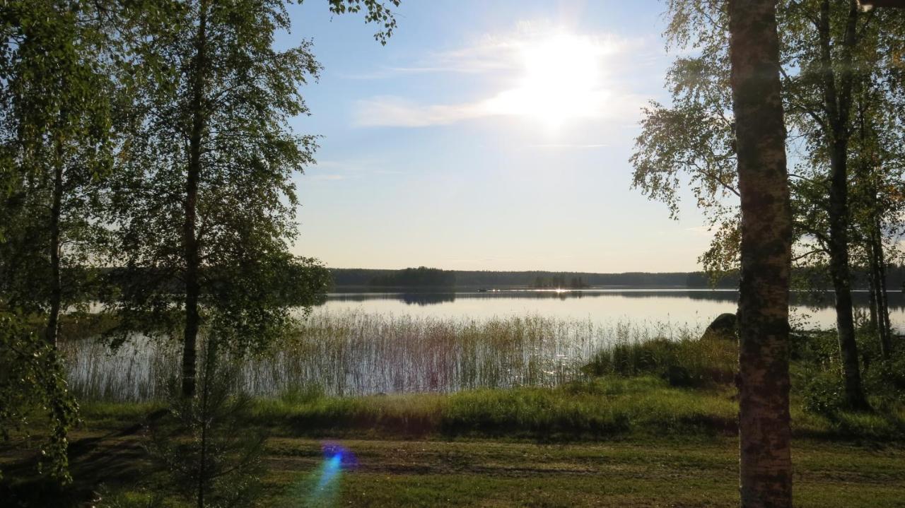
[[[186,172],[186,217],[183,225],[183,249],[186,262],[186,329],[182,351],[182,394],[195,396],[195,374],[197,371],[197,339],[201,325],[198,297],[201,293],[199,270],[201,253],[195,232],[198,202],[198,181],[201,178],[202,136],[205,131],[205,68],[207,3],[201,2],[198,33],[195,42],[195,63],[192,76],[192,127],[189,135],[188,170]]]

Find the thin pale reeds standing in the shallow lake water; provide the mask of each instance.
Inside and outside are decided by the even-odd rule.
[[[616,344],[688,340],[700,330],[662,323],[560,320],[540,315],[462,319],[317,311],[290,338],[242,360],[240,388],[255,396],[448,393],[557,386]],[[177,343],[136,335],[110,352],[64,347],[71,388],[85,400],[156,400],[178,367]]]

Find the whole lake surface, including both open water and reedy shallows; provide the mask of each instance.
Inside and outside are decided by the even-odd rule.
[[[905,299],[890,293],[891,321],[905,328]],[[582,376],[614,343],[696,338],[736,310],[725,290],[583,289],[458,293],[335,293],[274,351],[239,366],[254,395],[451,392],[555,386]],[[827,295],[795,294],[797,328],[832,328]],[[857,313],[868,296],[855,293]],[[63,343],[82,400],[153,400],[178,375],[178,341],[136,335],[115,353],[94,341]]]

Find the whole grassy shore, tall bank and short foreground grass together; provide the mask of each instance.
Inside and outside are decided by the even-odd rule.
[[[53,493],[54,505],[100,493],[98,506],[190,506],[143,448],[140,424],[160,409],[86,404],[72,436],[77,483]],[[261,506],[729,506],[737,502],[736,410],[728,387],[605,377],[452,395],[295,393],[255,400],[243,425],[271,436]],[[793,417],[796,506],[902,505],[901,419],[834,420],[801,409]],[[325,442],[354,460],[328,473]],[[5,449],[0,460],[16,477],[27,458]],[[33,476],[20,478],[8,496],[51,495]]]

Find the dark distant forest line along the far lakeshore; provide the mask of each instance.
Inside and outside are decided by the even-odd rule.
[[[405,268],[404,270],[369,268],[330,268],[334,287],[457,287],[477,288],[534,288],[534,287],[639,287],[639,288],[706,288],[710,278],[704,272],[625,272],[588,273],[552,271],[470,271],[439,268]],[[825,269],[795,268],[795,286],[813,289],[832,289]],[[865,270],[853,270],[853,287],[867,288]],[[539,282],[538,281],[542,281]],[[561,281],[556,285],[554,282]],[[573,281],[580,284],[573,285]],[[887,269],[887,287],[899,290],[905,283],[905,266]],[[738,287],[738,275],[720,278],[715,285],[721,289]]]

